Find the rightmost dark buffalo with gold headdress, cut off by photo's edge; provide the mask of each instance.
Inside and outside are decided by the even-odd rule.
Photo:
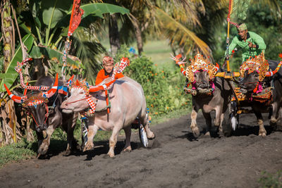
[[[252,62],[256,62],[256,64]],[[266,136],[262,113],[270,112],[269,123],[274,127],[274,130],[278,121],[279,110],[282,104],[282,70],[279,70],[281,64],[282,61],[280,63],[279,61],[265,61],[262,54],[256,58],[248,59],[240,68],[243,76],[243,80],[239,84],[240,91],[251,101],[252,111],[254,111],[259,125],[259,136],[262,137]],[[252,100],[265,87],[273,87],[272,99],[264,102]]]

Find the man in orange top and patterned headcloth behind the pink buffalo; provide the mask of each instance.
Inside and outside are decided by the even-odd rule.
[[[96,81],[95,81],[96,85],[103,82],[103,80],[105,80],[107,77],[111,77],[111,75],[113,75],[114,59],[111,58],[110,56],[104,56],[102,66],[103,66],[103,69],[99,71],[96,77]],[[116,79],[121,78],[121,77],[124,77],[123,73],[116,73],[116,76],[115,76]]]

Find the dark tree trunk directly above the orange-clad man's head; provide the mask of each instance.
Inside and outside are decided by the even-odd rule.
[[[109,18],[109,39],[111,45],[112,54],[116,54],[116,51],[121,47],[118,34],[118,22],[116,21],[116,15],[110,15]]]

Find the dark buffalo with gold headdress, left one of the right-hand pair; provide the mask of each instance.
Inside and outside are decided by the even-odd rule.
[[[190,65],[186,70],[182,64],[185,63],[180,61],[179,54],[173,57],[173,60],[180,65],[181,73],[187,77],[188,84],[192,84],[192,89],[185,88],[186,93],[192,94],[192,112],[191,112],[191,124],[190,128],[194,137],[199,137],[200,130],[197,126],[197,113],[202,110],[204,118],[207,124],[207,135],[211,133],[218,133],[223,131],[226,136],[231,134],[230,129],[222,129],[222,123],[224,120],[224,113],[228,108],[228,103],[231,98],[231,88],[228,82],[222,77],[215,77],[216,72],[219,70],[219,65],[213,65],[207,58],[204,58],[199,52],[195,58],[191,61]],[[214,120],[215,131],[211,132],[212,128],[212,117],[211,112],[216,112]],[[214,134],[214,135],[216,135]]]

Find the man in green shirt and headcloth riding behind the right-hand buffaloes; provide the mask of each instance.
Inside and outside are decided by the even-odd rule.
[[[238,35],[233,38],[228,54],[231,55],[235,47],[239,46],[242,50],[242,63],[250,58],[250,56],[255,57],[262,54],[262,51],[266,49],[264,39],[255,32],[248,32],[245,23],[239,23],[236,26]]]

